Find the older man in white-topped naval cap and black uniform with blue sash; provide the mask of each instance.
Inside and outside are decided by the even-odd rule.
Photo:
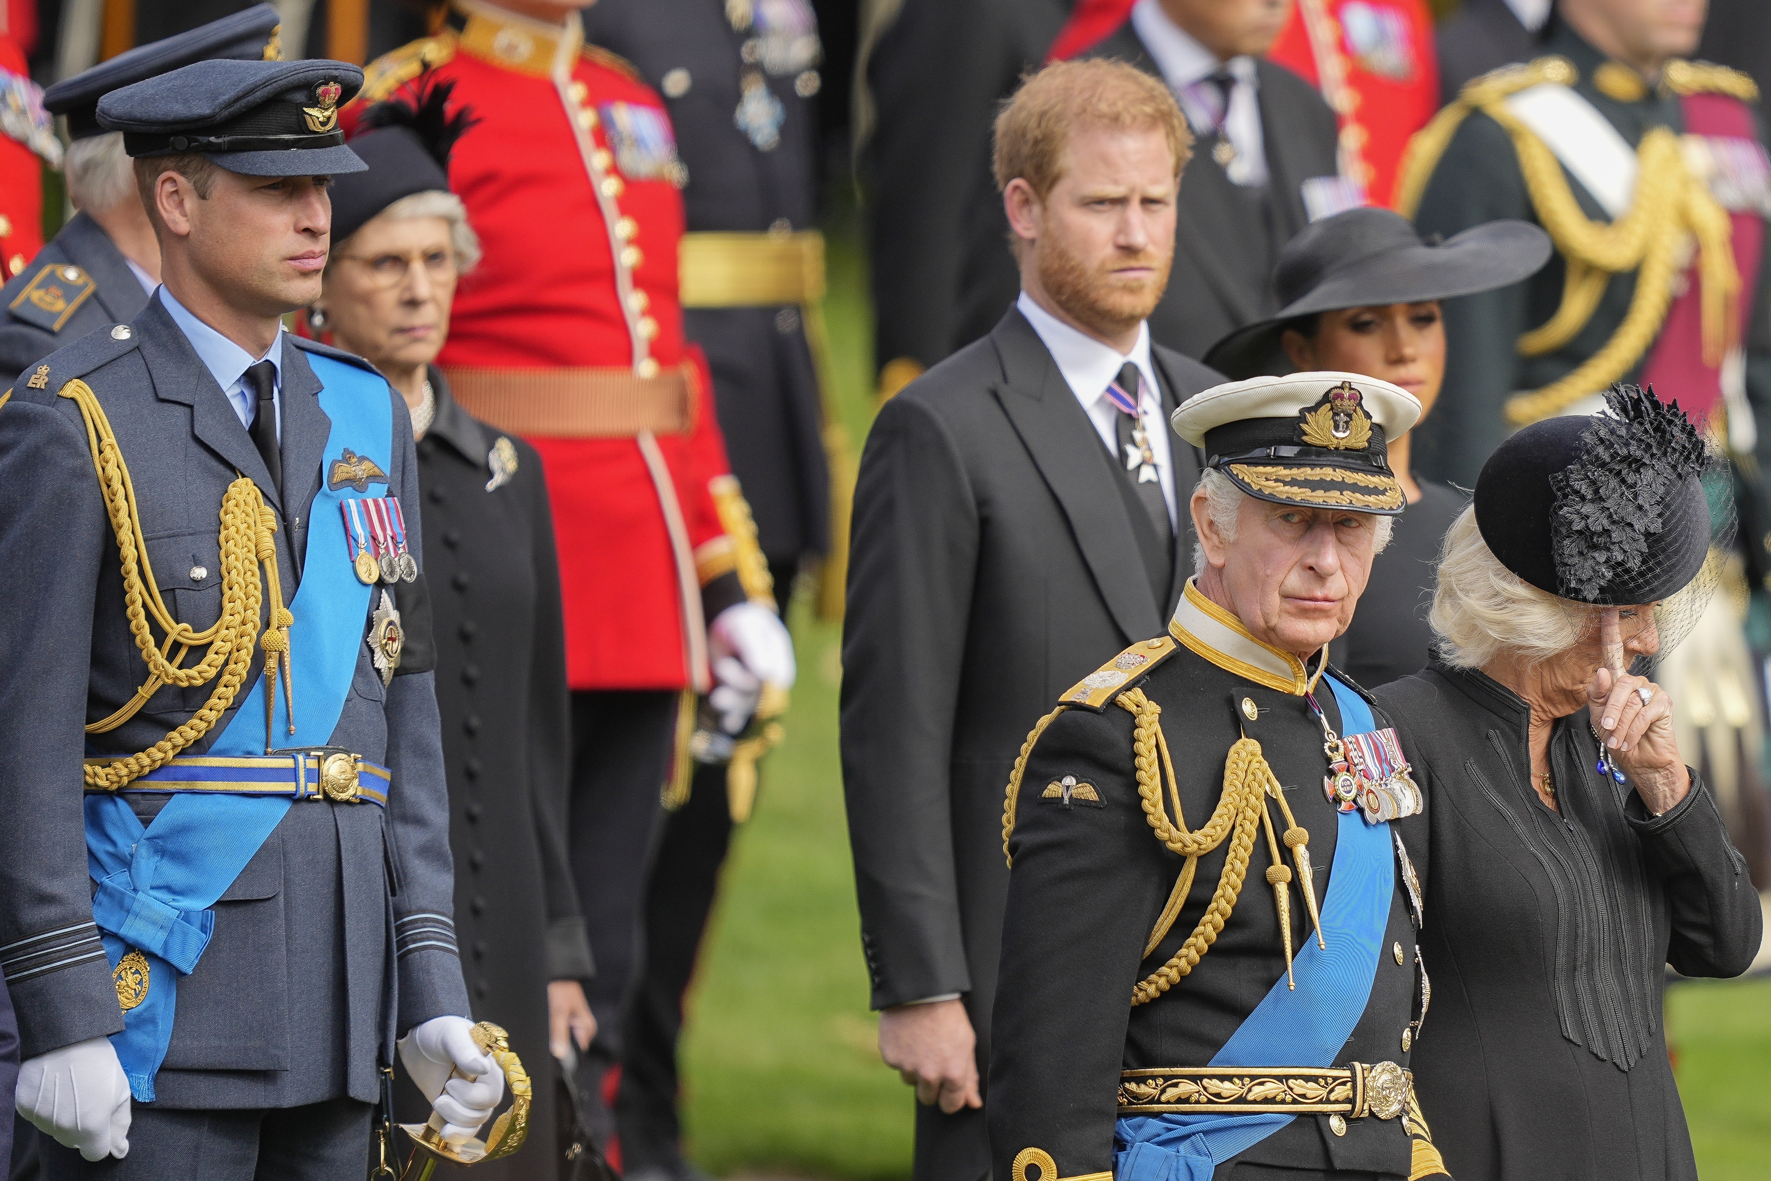
[[[1429,993],[1403,829],[1426,802],[1326,668],[1404,505],[1387,439],[1419,414],[1323,372],[1174,413],[1208,455],[1195,575],[1009,779],[997,1181],[1445,1172],[1406,1071]]]

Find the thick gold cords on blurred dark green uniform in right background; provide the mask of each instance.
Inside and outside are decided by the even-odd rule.
[[[1544,81],[1574,85],[1578,80],[1574,66],[1562,57],[1477,78],[1410,142],[1396,193],[1397,211],[1413,218],[1435,166],[1470,112],[1481,110],[1507,131],[1532,209],[1567,264],[1560,306],[1550,320],[1520,336],[1520,356],[1543,356],[1566,345],[1592,319],[1612,276],[1636,271],[1635,296],[1612,338],[1562,379],[1511,397],[1505,414],[1514,427],[1560,414],[1642,359],[1672,306],[1688,234],[1698,244],[1704,361],[1721,365],[1734,343],[1732,312],[1741,289],[1734,266],[1734,227],[1709,186],[1691,174],[1679,136],[1668,127],[1643,135],[1636,147],[1636,191],[1629,212],[1617,221],[1590,221],[1569,189],[1562,161],[1505,106],[1509,96],[1528,87]]]

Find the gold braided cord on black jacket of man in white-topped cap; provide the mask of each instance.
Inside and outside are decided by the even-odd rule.
[[[1316,942],[1326,947],[1321,935],[1321,917],[1316,908],[1316,885],[1311,875],[1309,859],[1309,841],[1311,834],[1298,825],[1296,818],[1291,814],[1291,806],[1286,802],[1284,788],[1273,776],[1273,768],[1268,767],[1266,758],[1261,754],[1261,744],[1254,738],[1238,738],[1229,749],[1229,756],[1224,760],[1224,793],[1218,797],[1217,807],[1211,811],[1211,820],[1206,822],[1203,829],[1192,832],[1187,829],[1187,822],[1181,816],[1181,791],[1174,777],[1174,761],[1169,758],[1169,740],[1162,733],[1162,706],[1144,696],[1142,689],[1128,689],[1126,692],[1114,698],[1114,703],[1132,714],[1132,754],[1133,765],[1137,768],[1137,793],[1142,800],[1144,818],[1149,822],[1151,830],[1162,845],[1179,857],[1185,857],[1181,864],[1181,875],[1174,882],[1174,889],[1169,892],[1169,901],[1162,908],[1162,915],[1156,919],[1155,930],[1149,933],[1149,940],[1144,944],[1144,958],[1148,958],[1156,946],[1167,937],[1174,921],[1181,914],[1181,907],[1187,905],[1187,896],[1194,887],[1194,875],[1199,869],[1199,859],[1213,850],[1217,850],[1226,839],[1229,839],[1229,852],[1224,859],[1224,871],[1218,875],[1217,889],[1211,894],[1211,903],[1206,907],[1204,915],[1199,924],[1192,930],[1187,940],[1181,944],[1167,963],[1146,976],[1132,990],[1132,1004],[1148,1004],[1169,992],[1183,976],[1194,970],[1217,937],[1224,931],[1224,924],[1229,921],[1231,912],[1236,907],[1236,899],[1241,896],[1243,880],[1249,875],[1249,859],[1254,853],[1254,832],[1257,825],[1266,829],[1266,845],[1272,853],[1272,864],[1266,868],[1266,880],[1273,887],[1273,905],[1279,912],[1279,930],[1284,938],[1286,947],[1286,977],[1291,977],[1291,894],[1289,884],[1293,876],[1298,878],[1303,889],[1303,901],[1309,907],[1311,919],[1316,922]],[[1063,714],[1068,706],[1057,706],[1045,717],[1038,721],[1032,733],[1020,747],[1020,756],[1015,760],[1015,770],[1009,776],[1008,799],[1002,806],[1002,852],[1008,853],[1009,836],[1015,832],[1015,806],[1020,797],[1022,776],[1027,770],[1027,756],[1032,754],[1034,744],[1038,744],[1040,735],[1045,728]],[[1169,800],[1174,807],[1174,822],[1169,822],[1167,809],[1162,802],[1162,779],[1167,777],[1169,783]],[[1266,799],[1272,797],[1279,800],[1279,809],[1286,818],[1284,845],[1291,850],[1296,861],[1298,873],[1293,875],[1291,866],[1284,864],[1284,855],[1279,852],[1280,838],[1273,830],[1273,818],[1268,811]],[[1013,859],[1009,859],[1013,868]],[[1296,988],[1296,983],[1291,984]]]

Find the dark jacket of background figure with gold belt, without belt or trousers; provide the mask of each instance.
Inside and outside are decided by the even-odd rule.
[[[809,19],[809,4],[799,2]],[[584,11],[584,39],[630,60],[664,96],[689,170],[682,189],[689,234],[815,228],[813,96],[824,85],[813,69],[816,37],[788,44],[786,30],[740,34],[717,0],[604,0]],[[760,76],[777,106],[744,104],[746,74]],[[740,106],[756,112],[756,138],[740,127]],[[685,303],[684,333],[714,372],[726,457],[756,517],[763,556],[793,567],[825,552],[824,409],[800,310]]]

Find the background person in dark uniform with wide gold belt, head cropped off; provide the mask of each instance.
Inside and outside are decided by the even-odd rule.
[[[726,455],[767,560],[767,568],[739,575],[753,593],[772,595],[786,618],[797,574],[816,572],[831,549],[831,466],[852,478],[845,436],[825,420],[820,398],[816,16],[806,0],[599,0],[584,12],[584,35],[664,96],[677,131],[687,170],[684,331],[707,354]],[[847,498],[839,512],[847,535]],[[832,556],[822,574],[839,597],[843,563]],[[772,701],[770,712],[785,705]],[[645,898],[645,960],[622,1034],[616,1123],[629,1181],[705,1176],[682,1153],[677,1046],[733,825],[756,800],[760,742],[733,756],[730,781],[726,758],[696,749],[666,790],[669,814]]]

